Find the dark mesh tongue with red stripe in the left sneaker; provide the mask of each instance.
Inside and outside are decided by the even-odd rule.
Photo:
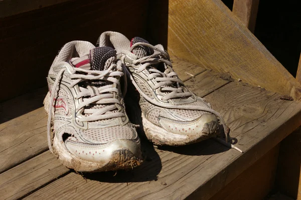
[[[74,67],[87,70],[105,70],[116,58],[116,51],[111,47],[97,47],[79,58],[70,60]]]

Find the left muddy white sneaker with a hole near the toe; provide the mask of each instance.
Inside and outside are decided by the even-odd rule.
[[[49,149],[68,168],[106,171],[142,162],[140,140],[125,114],[126,79],[116,51],[67,43],[47,77]]]

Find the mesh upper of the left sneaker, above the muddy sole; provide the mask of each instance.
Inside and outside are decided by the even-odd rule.
[[[116,140],[139,143],[125,114],[122,75],[116,51],[110,47],[73,41],[61,49],[47,79],[55,96],[51,101],[54,133],[56,137],[68,134],[67,149],[74,143],[85,148]],[[60,83],[52,91],[57,79]]]

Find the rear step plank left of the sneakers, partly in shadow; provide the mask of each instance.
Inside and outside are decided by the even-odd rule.
[[[0,173],[47,150],[47,119],[41,108],[47,90],[40,88],[0,104]]]

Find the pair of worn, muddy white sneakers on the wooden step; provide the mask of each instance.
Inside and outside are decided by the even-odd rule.
[[[76,171],[140,165],[139,126],[156,145],[215,137],[219,122],[227,135],[222,117],[184,85],[163,46],[139,37],[129,41],[120,33],[104,32],[97,47],[69,42],[56,56],[47,81],[49,149]]]

